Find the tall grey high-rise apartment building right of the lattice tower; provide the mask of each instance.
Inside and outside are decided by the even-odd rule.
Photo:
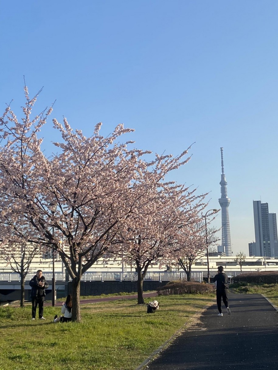
[[[255,245],[253,256],[278,257],[276,213],[268,212],[268,203],[253,201]]]

